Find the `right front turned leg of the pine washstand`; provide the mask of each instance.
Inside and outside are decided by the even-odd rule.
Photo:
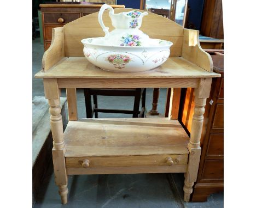
[[[187,173],[184,174],[184,201],[190,200],[190,194],[193,192],[193,185],[197,179],[199,168],[201,148],[200,139],[203,127],[203,114],[205,113],[206,98],[210,95],[211,78],[200,79],[199,88],[195,89],[195,107],[191,125],[190,139],[188,143],[189,161]]]

